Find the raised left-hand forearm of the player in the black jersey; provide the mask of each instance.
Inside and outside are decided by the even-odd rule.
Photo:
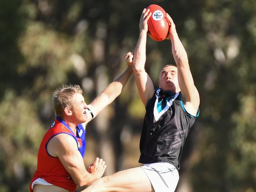
[[[139,34],[139,39],[134,50],[134,70],[143,70],[146,62],[146,42],[147,42],[147,32],[141,31]]]

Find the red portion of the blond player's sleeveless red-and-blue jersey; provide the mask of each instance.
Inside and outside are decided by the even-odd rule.
[[[82,125],[80,125],[80,128],[81,126]],[[78,148],[82,148],[82,143],[84,142],[81,141],[81,138],[76,137],[69,126],[67,126],[61,118],[57,117],[52,127],[45,133],[40,144],[37,156],[37,170],[30,183],[30,192],[32,192],[33,181],[38,178],[45,179],[48,183],[67,189],[71,192],[76,190],[76,183],[74,183],[59,158],[51,156],[46,150],[49,140],[58,134],[68,134],[72,136],[76,140]],[[82,156],[84,156],[84,154]]]

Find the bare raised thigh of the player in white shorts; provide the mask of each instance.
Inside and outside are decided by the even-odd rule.
[[[82,192],[154,192],[142,168],[131,168],[97,179]]]

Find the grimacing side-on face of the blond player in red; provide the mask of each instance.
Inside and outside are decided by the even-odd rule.
[[[88,106],[84,102],[82,94],[75,93],[72,102],[72,115],[74,117],[74,121],[76,121],[77,124],[86,122],[86,120],[88,119],[88,113],[86,113],[85,109],[87,109]]]

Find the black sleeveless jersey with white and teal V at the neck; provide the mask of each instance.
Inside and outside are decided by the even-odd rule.
[[[199,110],[197,116],[198,114]],[[181,93],[174,94],[156,89],[154,96],[146,105],[139,144],[139,162],[169,162],[179,170],[178,159],[197,116],[187,113]]]

